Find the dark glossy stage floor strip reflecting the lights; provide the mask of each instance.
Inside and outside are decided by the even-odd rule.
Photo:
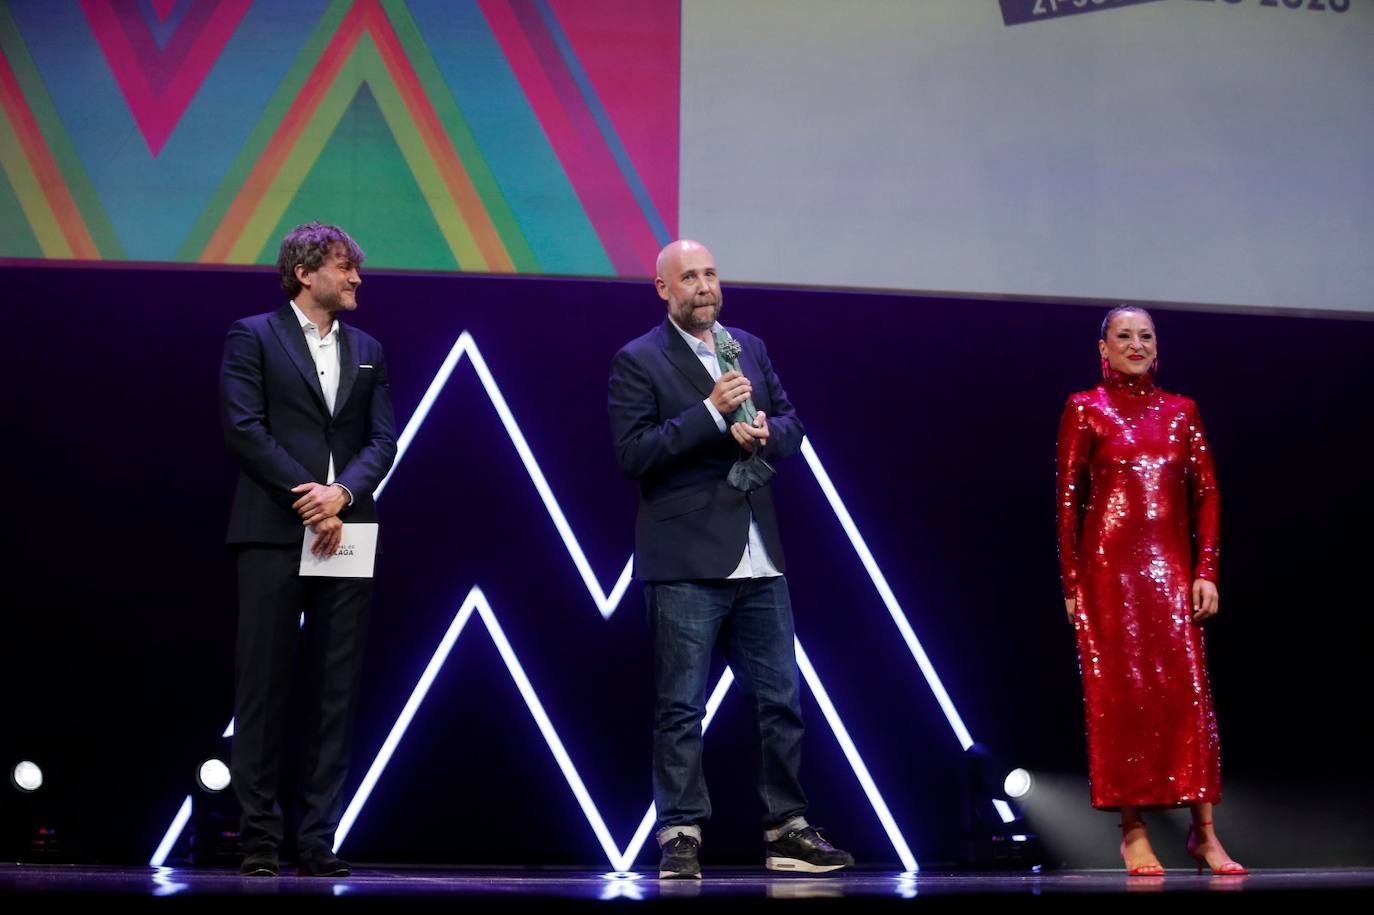
[[[122,897],[121,907],[140,899],[174,896],[187,901],[282,901],[293,908],[348,899],[379,904],[434,903],[477,908],[544,907],[580,908],[602,901],[677,904],[712,901],[830,901],[848,908],[871,908],[908,900],[944,904],[996,901],[1051,901],[1065,904],[1125,903],[1168,893],[1208,896],[1208,905],[1257,901],[1256,897],[1311,896],[1311,901],[1337,896],[1374,900],[1374,870],[1257,871],[1248,877],[1197,877],[1172,871],[1160,878],[1127,878],[1114,871],[1058,871],[1026,874],[1007,871],[921,872],[849,871],[833,877],[775,875],[767,871],[719,868],[701,881],[660,881],[651,875],[611,875],[567,870],[467,870],[361,867],[349,878],[323,879],[283,875],[242,878],[232,871],[203,868],[84,867],[0,864],[0,900],[43,894]],[[995,899],[989,899],[995,897]],[[19,900],[14,900],[19,901]],[[36,901],[32,899],[29,901]],[[1162,900],[1156,900],[1154,904]],[[1274,899],[1272,901],[1281,901]]]

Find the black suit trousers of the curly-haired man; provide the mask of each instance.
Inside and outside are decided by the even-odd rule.
[[[243,850],[275,850],[282,844],[278,783],[298,642],[304,664],[297,683],[302,756],[295,845],[298,852],[330,849],[342,815],[372,580],[301,577],[300,545],[245,544],[235,552],[239,624],[231,771],[243,808]]]

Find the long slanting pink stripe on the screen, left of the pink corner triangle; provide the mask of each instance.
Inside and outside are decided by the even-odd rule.
[[[533,19],[526,29],[521,10],[508,0],[480,0],[480,5],[616,272],[653,276],[658,242],[539,14],[523,7]]]

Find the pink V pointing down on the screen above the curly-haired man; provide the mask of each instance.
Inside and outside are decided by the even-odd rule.
[[[213,8],[206,5],[212,11],[198,30],[191,30],[195,22],[191,21],[191,14],[187,14],[187,22],[177,29],[177,34],[168,43],[168,49],[159,51],[151,36],[146,47],[136,47],[129,40],[113,0],[81,0],[87,22],[154,157],[162,152],[164,144],[181,121],[191,99],[201,89],[201,84],[218,60],[250,4],[251,0],[214,0]],[[139,26],[147,32],[144,23],[139,22]],[[183,32],[191,36],[184,49]],[[148,47],[153,49],[148,51]],[[176,56],[172,56],[173,48]],[[148,62],[164,59],[174,62],[169,65],[172,70],[165,78],[154,78]],[[157,67],[153,69],[155,73]]]

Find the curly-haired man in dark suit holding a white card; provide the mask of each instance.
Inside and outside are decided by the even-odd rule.
[[[382,346],[338,320],[357,308],[361,262],[344,229],[298,225],[276,262],[291,301],[236,321],[224,343],[221,419],[240,468],[228,533],[239,585],[232,784],[247,875],[278,872],[278,780],[302,613],[297,868],[349,874],[334,855],[334,830],[372,580],[301,577],[300,563],[306,528],[315,554],[327,556],[345,522],[376,521],[372,490],[396,458]]]

